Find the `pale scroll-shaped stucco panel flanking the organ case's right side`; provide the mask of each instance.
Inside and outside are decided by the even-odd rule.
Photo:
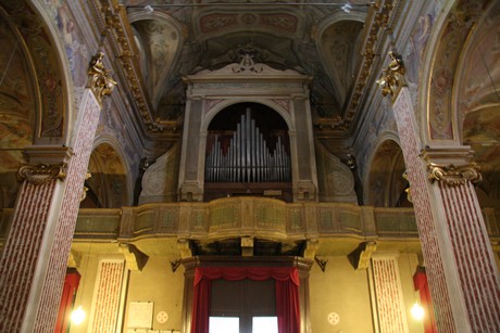
[[[316,142],[315,145],[320,200],[327,202],[358,202],[352,171],[320,142]]]

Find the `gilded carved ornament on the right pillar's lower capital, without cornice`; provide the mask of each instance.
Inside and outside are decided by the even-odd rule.
[[[454,166],[452,164],[442,165],[428,162],[427,169],[428,178],[432,182],[439,180],[450,187],[462,185],[467,181],[477,183],[483,180],[479,166],[475,163]]]

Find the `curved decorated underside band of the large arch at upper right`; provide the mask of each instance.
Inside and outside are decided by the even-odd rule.
[[[453,107],[453,89],[461,54],[488,1],[459,0],[442,8],[434,25],[422,67],[417,116],[423,144],[460,145],[460,125]],[[466,14],[465,14],[466,13]]]

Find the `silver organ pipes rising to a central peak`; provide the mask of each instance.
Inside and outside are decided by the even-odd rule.
[[[213,138],[205,159],[205,181],[290,182],[291,163],[287,142],[286,137],[278,136],[276,145],[270,148],[251,118],[250,108],[247,108],[228,144],[224,144],[217,135]]]

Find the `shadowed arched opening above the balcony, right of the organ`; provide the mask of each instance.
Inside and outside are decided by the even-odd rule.
[[[393,133],[380,137],[368,159],[364,189],[364,203],[378,207],[411,206],[403,178],[405,164],[399,140]]]

